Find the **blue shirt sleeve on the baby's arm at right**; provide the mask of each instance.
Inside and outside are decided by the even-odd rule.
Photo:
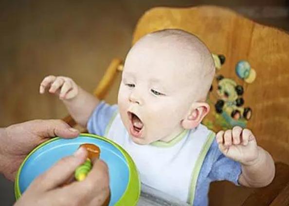
[[[210,150],[211,155],[209,156],[215,158],[215,161],[208,177],[212,181],[228,180],[235,185],[239,185],[238,179],[242,172],[241,164],[222,154],[218,149],[216,140],[212,143]]]

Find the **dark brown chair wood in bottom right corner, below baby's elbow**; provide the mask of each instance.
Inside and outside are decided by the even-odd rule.
[[[289,165],[277,162],[275,167],[276,174],[272,183],[267,187],[255,189],[242,206],[281,206],[282,204],[285,206],[286,203],[288,206]]]

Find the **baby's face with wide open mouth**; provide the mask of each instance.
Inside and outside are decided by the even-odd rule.
[[[180,51],[167,45],[141,44],[126,57],[118,106],[122,121],[135,143],[168,141],[183,128],[183,120],[198,78]]]

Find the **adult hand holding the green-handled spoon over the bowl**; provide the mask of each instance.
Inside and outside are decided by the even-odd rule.
[[[109,197],[108,168],[101,160],[93,163],[88,176],[80,182],[59,187],[87,157],[80,147],[40,175],[24,192],[15,206],[101,206]]]

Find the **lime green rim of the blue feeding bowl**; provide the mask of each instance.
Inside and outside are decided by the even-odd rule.
[[[92,137],[92,138],[98,138],[101,140],[104,140],[110,144],[112,144],[114,147],[116,147],[125,157],[126,159],[126,163],[128,165],[128,171],[129,171],[129,177],[128,177],[128,183],[127,183],[127,187],[126,187],[126,191],[124,192],[123,196],[119,199],[119,201],[115,204],[115,206],[136,206],[141,194],[141,182],[140,182],[140,178],[139,178],[139,173],[136,169],[136,166],[132,160],[132,158],[129,156],[129,154],[117,143],[105,138],[105,137],[100,137],[97,135],[92,135],[92,134],[86,134],[86,133],[82,133],[79,135],[79,137]],[[24,161],[22,162],[22,164],[20,165],[17,175],[16,175],[16,179],[15,179],[15,184],[14,184],[14,192],[15,192],[15,198],[16,200],[18,200],[21,197],[21,192],[20,192],[20,188],[19,188],[19,175],[20,172],[22,171],[22,167],[24,166],[25,162],[27,161],[27,159],[36,152],[36,150],[38,150],[40,147],[43,147],[46,144],[49,144],[52,141],[55,141],[59,139],[59,137],[55,137],[53,139],[50,139],[46,142],[43,142],[42,144],[38,145],[34,150],[32,150],[32,152],[30,152],[26,158],[24,159]]]

